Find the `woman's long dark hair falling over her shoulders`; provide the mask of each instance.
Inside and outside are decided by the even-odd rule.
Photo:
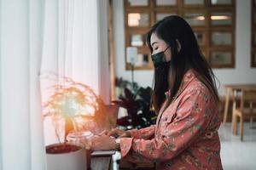
[[[199,80],[204,83],[218,101],[218,90],[215,77],[210,65],[201,53],[201,49],[189,24],[183,18],[172,15],[158,21],[147,34],[147,43],[151,53],[150,37],[155,33],[157,37],[164,40],[171,48],[172,59],[166,65],[154,69],[154,87],[152,104],[158,113],[161,105],[166,99],[165,92],[171,90],[167,99],[166,107],[171,105],[183,80],[183,76],[189,69],[196,72]],[[178,42],[180,50],[178,50]],[[165,107],[165,108],[166,108]]]

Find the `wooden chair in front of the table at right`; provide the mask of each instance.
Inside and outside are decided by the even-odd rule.
[[[240,98],[240,105],[237,104],[238,98]],[[248,106],[245,104],[248,104]],[[239,117],[241,141],[243,140],[243,122],[247,118],[250,118],[250,121],[253,122],[253,118],[256,118],[255,104],[256,90],[243,89],[235,91],[235,95],[233,95],[232,130],[233,134],[237,135],[237,117]]]

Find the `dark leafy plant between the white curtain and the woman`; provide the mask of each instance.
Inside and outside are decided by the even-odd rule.
[[[152,89],[139,87],[137,83],[132,86],[131,82],[122,79],[118,81],[117,87],[123,92],[119,95],[119,100],[115,100],[113,103],[124,107],[128,116],[118,119],[117,124],[127,129],[148,127],[154,124],[156,115],[150,107]]]

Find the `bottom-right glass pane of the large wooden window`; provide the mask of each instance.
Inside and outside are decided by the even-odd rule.
[[[212,65],[230,65],[231,62],[230,52],[212,52],[210,59]]]

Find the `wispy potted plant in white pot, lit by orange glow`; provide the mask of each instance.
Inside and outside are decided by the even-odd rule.
[[[44,116],[52,119],[59,143],[46,146],[48,170],[86,169],[85,147],[67,143],[67,135],[73,132],[79,139],[80,132],[100,133],[111,126],[110,116],[104,112],[102,99],[82,83],[66,78],[63,85],[50,89],[49,99],[44,103]],[[63,131],[64,142],[61,142]]]

